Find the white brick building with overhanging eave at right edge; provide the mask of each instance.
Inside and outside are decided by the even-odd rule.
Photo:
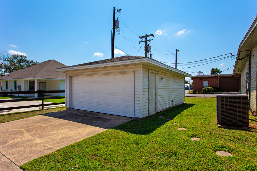
[[[249,94],[250,108],[256,111],[257,15],[239,44],[233,73],[241,74],[241,92]],[[256,30],[255,30],[256,29]]]

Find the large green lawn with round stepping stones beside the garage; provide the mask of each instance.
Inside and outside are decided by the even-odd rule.
[[[168,121],[169,118],[174,120]],[[192,137],[201,140],[192,141]],[[216,155],[220,150],[233,156]],[[257,170],[256,158],[256,133],[218,128],[215,98],[186,97],[185,104],[98,133],[36,158],[21,168],[33,171],[252,171]]]

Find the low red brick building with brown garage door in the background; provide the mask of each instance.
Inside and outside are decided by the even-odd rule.
[[[191,78],[194,91],[202,91],[204,87],[219,87],[219,92],[240,90],[240,74],[196,75]]]

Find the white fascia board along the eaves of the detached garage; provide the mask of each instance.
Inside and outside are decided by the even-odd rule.
[[[93,65],[83,65],[83,66],[75,66],[75,67],[57,68],[57,69],[54,69],[54,71],[67,72],[67,71],[72,71],[72,70],[92,69],[92,68],[101,68],[101,67],[112,67],[112,66],[120,66],[120,65],[137,65],[137,64],[142,64],[142,63],[145,63],[145,64],[150,63],[150,64],[153,64],[153,65],[157,65],[157,66],[160,66],[162,68],[165,68],[167,70],[177,72],[177,73],[182,74],[184,76],[188,76],[188,77],[191,76],[191,74],[180,71],[178,69],[175,69],[173,67],[170,67],[166,64],[163,64],[161,62],[158,62],[156,60],[153,60],[153,59],[147,58],[147,57],[131,59],[131,60],[121,60],[121,61],[108,62],[108,63],[101,63],[101,64],[93,64]]]

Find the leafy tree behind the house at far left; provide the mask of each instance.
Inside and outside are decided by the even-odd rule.
[[[27,56],[24,55],[10,55],[8,52],[1,51],[0,61],[1,61],[1,75],[3,76],[6,73],[10,73],[16,70],[22,70],[32,65],[36,65],[39,62],[34,60],[28,60]]]

